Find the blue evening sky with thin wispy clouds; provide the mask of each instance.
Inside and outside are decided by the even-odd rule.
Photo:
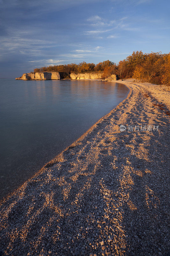
[[[169,0],[0,0],[0,78],[170,52]]]

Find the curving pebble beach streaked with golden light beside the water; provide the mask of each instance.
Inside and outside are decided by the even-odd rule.
[[[169,92],[122,83],[127,99],[1,201],[0,255],[169,255]]]

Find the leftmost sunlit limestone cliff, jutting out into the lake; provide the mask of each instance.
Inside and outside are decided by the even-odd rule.
[[[21,77],[15,78],[16,80],[59,80],[64,77],[63,72],[33,72],[25,73]]]

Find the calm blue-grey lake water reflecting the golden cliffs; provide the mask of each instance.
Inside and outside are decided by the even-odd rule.
[[[12,192],[128,95],[122,84],[0,80],[0,197]]]

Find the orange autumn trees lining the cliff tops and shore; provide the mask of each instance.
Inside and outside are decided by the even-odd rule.
[[[118,75],[120,79],[133,77],[142,82],[154,84],[170,85],[170,53],[161,52],[143,53],[142,51],[133,52],[125,60],[119,61],[118,65],[110,60],[99,62],[98,64],[70,63],[66,65],[54,65],[48,67],[35,68],[34,72],[57,71],[70,73],[90,73],[103,72],[102,78],[107,78],[112,74]]]

